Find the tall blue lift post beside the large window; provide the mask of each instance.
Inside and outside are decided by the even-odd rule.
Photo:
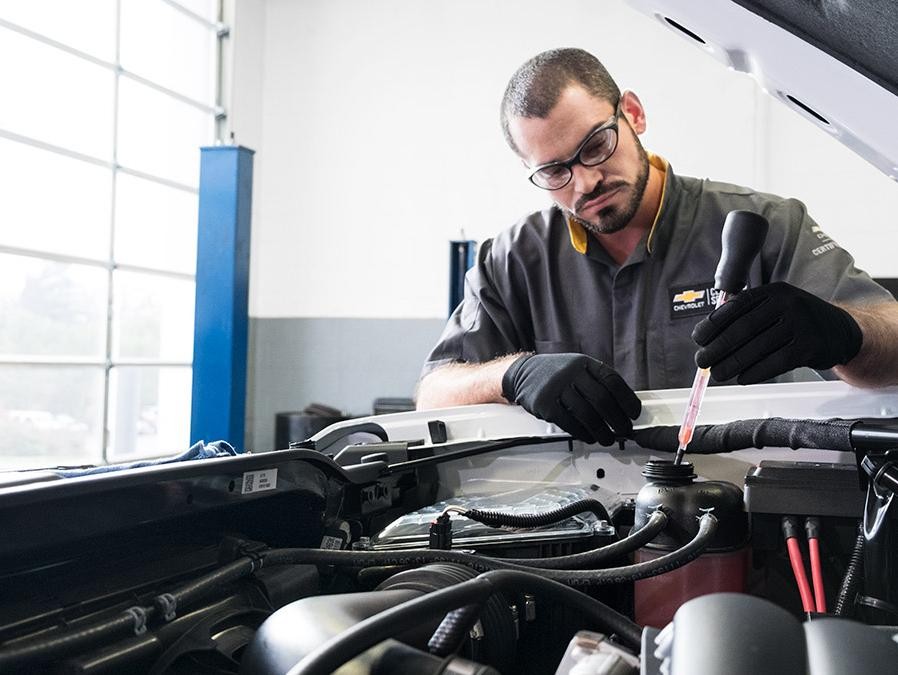
[[[243,448],[253,151],[202,148],[190,442]]]

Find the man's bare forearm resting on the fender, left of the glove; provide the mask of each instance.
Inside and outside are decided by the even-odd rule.
[[[418,383],[417,409],[508,403],[502,396],[502,376],[519,356],[509,354],[485,363],[451,363],[437,368]]]

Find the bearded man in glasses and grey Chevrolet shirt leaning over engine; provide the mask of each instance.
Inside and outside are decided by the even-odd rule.
[[[481,246],[425,364],[419,409],[518,403],[610,445],[639,415],[633,389],[688,387],[696,363],[740,384],[800,366],[898,383],[888,292],[800,202],[677,176],[647,153],[639,98],[594,56],[558,49],[521,66],[502,127],[554,205]],[[770,231],[749,290],[709,316],[734,209],[762,214]]]

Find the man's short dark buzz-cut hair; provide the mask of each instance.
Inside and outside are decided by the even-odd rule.
[[[537,54],[517,69],[502,97],[502,133],[511,149],[521,154],[508,128],[512,117],[549,115],[561,92],[578,84],[596,98],[616,105],[620,100],[617,83],[595,56],[583,49],[550,49]]]

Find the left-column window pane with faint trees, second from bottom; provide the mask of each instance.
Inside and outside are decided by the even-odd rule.
[[[105,269],[0,254],[0,356],[105,358]]]

